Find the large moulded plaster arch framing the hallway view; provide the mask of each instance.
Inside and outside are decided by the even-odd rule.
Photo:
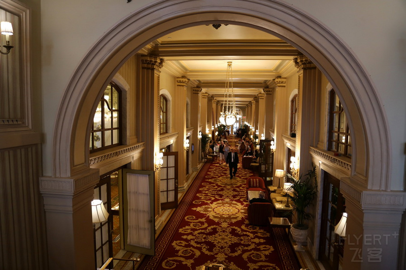
[[[308,56],[337,89],[347,108],[354,149],[352,181],[361,188],[389,190],[385,114],[365,70],[340,38],[313,17],[277,1],[208,0],[205,4],[202,7],[201,2],[192,0],[152,3],[122,19],[90,49],[59,109],[53,145],[55,176],[69,177],[88,167],[84,146],[91,108],[99,89],[130,56],[161,35],[222,23],[276,35]]]

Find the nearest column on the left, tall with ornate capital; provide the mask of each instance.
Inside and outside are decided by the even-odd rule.
[[[159,152],[159,74],[164,59],[141,56],[140,89],[137,91],[138,138],[145,142],[142,158],[144,170],[154,170],[155,153]],[[155,172],[155,215],[160,213],[159,170]]]

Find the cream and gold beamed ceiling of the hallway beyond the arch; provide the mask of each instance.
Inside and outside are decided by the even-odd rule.
[[[164,35],[150,48],[165,67],[187,76],[196,87],[224,101],[227,62],[237,106],[248,104],[277,76],[296,72],[299,51],[280,38],[239,25],[200,25]]]

